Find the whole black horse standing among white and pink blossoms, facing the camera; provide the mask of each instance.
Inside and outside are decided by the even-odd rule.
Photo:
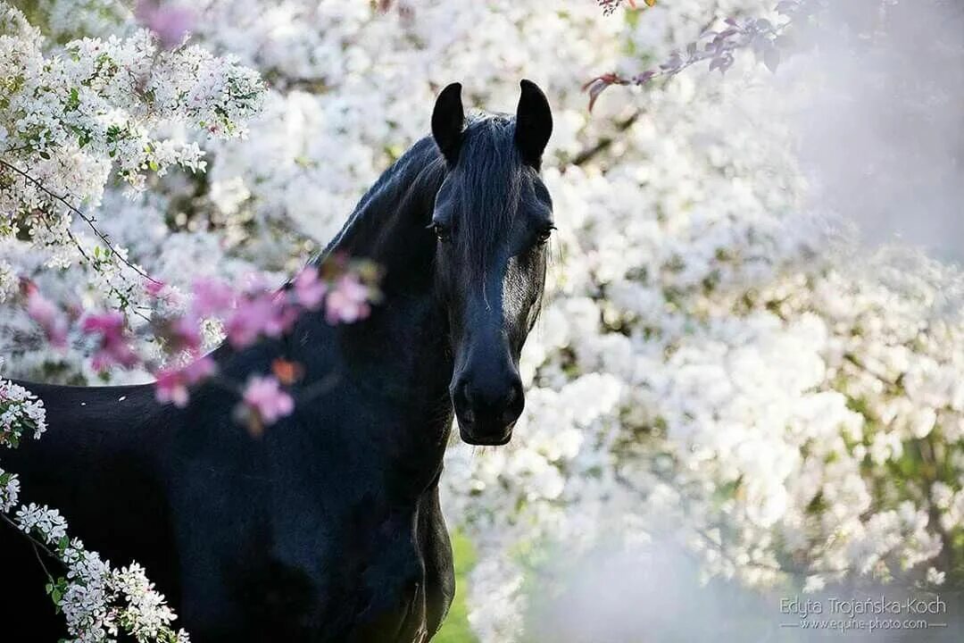
[[[551,128],[529,81],[515,118],[467,121],[461,86],[442,91],[432,136],[318,259],[380,263],[384,301],[357,324],[308,314],[279,340],[215,352],[234,380],[280,356],[301,362],[296,400],[335,374],[260,438],[232,421],[236,394],[212,385],[177,410],[150,385],[21,383],[49,424],[2,454],[23,499],[60,508],[115,564],[144,564],[200,643],[431,638],[454,592],[438,488],[453,407],[472,444],[508,442],[522,413],[518,361],[552,228],[539,177]],[[0,571],[0,627],[62,636],[35,552],[2,524]]]

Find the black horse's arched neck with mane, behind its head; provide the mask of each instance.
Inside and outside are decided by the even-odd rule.
[[[404,395],[415,403],[421,396],[434,404],[432,415],[440,415],[442,398],[448,405],[452,370],[447,315],[435,289],[436,240],[426,229],[443,175],[434,141],[419,141],[362,197],[316,259],[338,254],[366,258],[384,270],[383,300],[368,319],[341,329],[341,354],[354,372],[373,374],[371,387],[421,383]]]

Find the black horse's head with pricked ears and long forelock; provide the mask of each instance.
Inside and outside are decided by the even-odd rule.
[[[552,201],[539,175],[552,131],[546,95],[523,80],[515,117],[467,122],[462,87],[432,114],[445,174],[430,228],[437,292],[448,315],[449,393],[470,444],[504,444],[522,414],[522,344],[542,301]]]

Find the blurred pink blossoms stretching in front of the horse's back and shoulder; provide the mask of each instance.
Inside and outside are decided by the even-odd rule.
[[[195,281],[186,310],[167,316],[155,314],[149,320],[151,337],[162,342],[170,356],[163,363],[137,352],[136,338],[120,311],[86,311],[71,319],[68,310],[45,299],[35,284],[26,283],[24,290],[27,313],[50,345],[63,347],[68,335],[87,340],[92,346],[91,366],[99,372],[143,365],[153,372],[157,399],[184,407],[190,400],[189,388],[217,372],[213,358],[202,354],[205,324],[217,322],[231,347],[242,350],[262,338],[288,333],[303,313],[322,308],[329,323],[352,323],[366,317],[371,304],[379,298],[378,279],[379,269],[371,262],[335,256],[320,266],[309,265],[290,281],[290,287],[281,290],[257,279],[240,289],[223,280]],[[167,303],[176,304],[182,298],[175,288],[160,281],[149,281],[146,288],[153,297]],[[71,330],[71,326],[75,328]],[[278,376],[252,375],[242,389],[242,402],[248,407],[244,413],[250,423],[262,427],[293,411],[293,399],[279,386],[280,380],[292,384],[297,379],[289,372],[297,365],[287,363],[276,364]],[[25,389],[16,388],[23,395],[30,395]],[[11,436],[15,440],[19,433],[11,432]]]

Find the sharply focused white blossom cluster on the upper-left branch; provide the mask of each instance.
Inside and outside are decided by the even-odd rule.
[[[122,259],[92,212],[111,176],[143,190],[148,172],[202,171],[197,140],[163,132],[243,135],[264,86],[199,46],[163,49],[147,29],[70,40],[53,54],[45,44],[22,13],[0,5],[0,237],[28,237],[53,266],[81,258],[98,268]],[[91,243],[78,238],[75,218],[93,228]],[[129,291],[117,281],[119,294]]]

